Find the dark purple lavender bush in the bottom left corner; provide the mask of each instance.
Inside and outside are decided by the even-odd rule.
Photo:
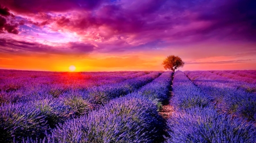
[[[40,137],[48,127],[45,119],[39,109],[24,103],[0,106],[0,142]]]

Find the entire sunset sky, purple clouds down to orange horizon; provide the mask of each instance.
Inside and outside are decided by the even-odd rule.
[[[256,70],[255,0],[0,0],[0,69]]]

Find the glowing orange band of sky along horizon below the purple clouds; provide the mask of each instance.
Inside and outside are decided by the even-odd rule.
[[[210,44],[208,44],[210,45]],[[179,55],[185,66],[179,70],[256,70],[255,55],[240,53],[236,46],[228,50],[230,45],[218,45],[223,55],[216,51],[204,51],[205,44],[188,47],[168,48],[154,51],[137,51],[123,53],[92,53],[88,55],[56,55],[56,54],[1,54],[0,68],[15,70],[39,71],[69,71],[69,66],[76,67],[75,71],[136,71],[164,70],[161,65],[167,55]],[[250,45],[237,45],[250,46]],[[224,49],[226,48],[226,50]],[[237,52],[236,52],[237,51]],[[230,54],[228,54],[230,53]],[[226,54],[226,55],[225,55]]]

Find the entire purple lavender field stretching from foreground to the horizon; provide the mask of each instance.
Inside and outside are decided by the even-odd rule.
[[[254,143],[255,75],[0,70],[0,142]]]

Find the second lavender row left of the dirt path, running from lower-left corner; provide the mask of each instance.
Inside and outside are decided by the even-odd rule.
[[[90,110],[137,90],[150,83],[162,72],[151,72],[121,83],[93,86],[88,92],[71,90],[59,98],[52,96],[31,101],[3,104],[0,107],[0,142],[12,142],[15,137],[44,137],[46,131],[70,118],[88,114]]]

